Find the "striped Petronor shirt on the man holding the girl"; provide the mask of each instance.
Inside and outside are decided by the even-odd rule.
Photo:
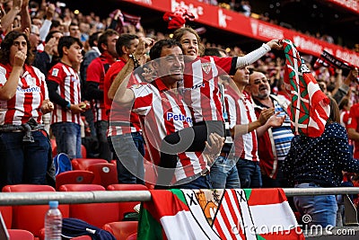
[[[140,115],[144,138],[154,164],[159,164],[162,139],[180,129],[192,127],[188,106],[182,97],[170,91],[156,79],[152,84],[137,84],[130,88],[136,96],[133,110]],[[206,169],[201,152],[180,153],[175,170],[175,181],[180,181]]]

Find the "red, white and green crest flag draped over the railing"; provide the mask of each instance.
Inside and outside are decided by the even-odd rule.
[[[304,239],[282,189],[154,190],[137,239]]]

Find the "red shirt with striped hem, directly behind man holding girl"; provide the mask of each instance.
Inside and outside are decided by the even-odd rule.
[[[105,103],[105,110],[107,115],[107,120],[109,120],[109,130],[108,136],[117,136],[123,135],[131,132],[141,131],[140,120],[138,115],[135,112],[131,111],[131,108],[124,108],[116,102],[112,102],[109,99],[109,87],[111,86],[113,80],[118,76],[118,73],[126,65],[126,60],[119,58],[117,62],[109,67],[108,72],[105,75],[105,80],[103,84],[103,96]],[[135,77],[131,77],[128,85],[138,84]],[[123,123],[124,126],[113,126],[112,124]],[[131,124],[131,126],[128,126]],[[127,126],[125,126],[127,125]]]

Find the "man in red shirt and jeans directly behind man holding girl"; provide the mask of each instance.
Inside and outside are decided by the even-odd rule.
[[[117,163],[118,183],[144,184],[144,137],[139,117],[129,108],[112,102],[115,94],[109,91],[111,87],[117,89],[116,83],[113,83],[116,76],[130,60],[129,56],[135,54],[138,46],[141,49],[142,44],[143,41],[140,43],[135,34],[121,34],[116,42],[118,61],[109,67],[105,76],[104,102],[110,119],[108,141]],[[131,82],[128,86],[132,84],[138,83]]]

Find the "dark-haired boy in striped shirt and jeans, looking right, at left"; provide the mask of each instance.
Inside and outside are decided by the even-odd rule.
[[[60,62],[48,72],[48,95],[56,103],[51,129],[57,141],[57,152],[71,159],[81,155],[80,115],[87,104],[81,101],[81,84],[77,75],[83,59],[83,44],[71,36],[58,41]]]

